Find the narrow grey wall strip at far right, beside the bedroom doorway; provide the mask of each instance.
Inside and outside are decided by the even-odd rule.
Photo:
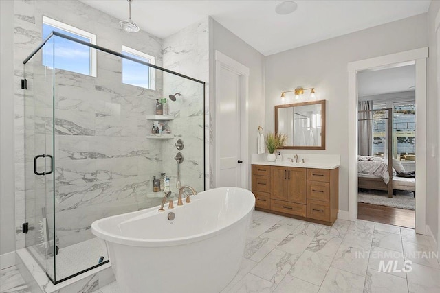
[[[426,224],[440,242],[439,233],[439,68],[437,63],[437,36],[435,18],[439,14],[440,1],[432,1],[428,10],[428,101],[426,103],[427,119],[426,130]],[[434,148],[435,156],[431,154]]]

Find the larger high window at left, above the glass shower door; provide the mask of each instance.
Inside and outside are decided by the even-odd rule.
[[[96,35],[71,25],[43,16],[43,40],[50,33],[59,32],[87,43],[96,44]],[[56,59],[54,60],[54,51]],[[53,62],[55,65],[52,66]],[[65,38],[54,38],[54,47],[47,47],[43,65],[96,77],[96,49]]]

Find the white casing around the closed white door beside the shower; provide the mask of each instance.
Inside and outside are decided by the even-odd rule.
[[[241,165],[239,165],[240,172],[240,184],[239,187],[249,189],[249,169],[250,169],[250,156],[249,156],[249,68],[245,67],[241,63],[236,60],[226,56],[221,53],[221,51],[215,51],[215,108],[219,107],[219,99],[217,97],[220,96],[220,69],[225,68],[228,69],[237,75],[240,78],[240,86],[241,86],[241,101],[240,101],[240,156],[243,161]],[[215,115],[215,184],[219,182],[219,152],[217,152],[217,148],[219,148],[219,137],[217,131],[215,129],[219,127],[219,115]]]

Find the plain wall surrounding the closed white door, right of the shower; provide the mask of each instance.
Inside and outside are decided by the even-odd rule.
[[[243,159],[243,161],[250,163],[250,154],[256,154],[257,152],[258,127],[265,126],[265,57],[214,19],[210,19],[210,32],[212,32],[210,34],[212,36],[212,40],[210,40],[212,42],[212,45],[210,45],[210,97],[212,97],[210,99],[210,109],[214,109],[215,105],[215,51],[220,51],[250,69],[249,157]],[[211,111],[211,114],[211,121],[215,121],[215,113]],[[266,129],[265,132],[267,132]],[[213,161],[214,158],[214,152],[210,152],[210,159]],[[215,169],[214,165],[212,165],[212,169]]]

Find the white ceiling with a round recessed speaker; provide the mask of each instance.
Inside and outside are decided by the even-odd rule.
[[[80,0],[117,19],[128,19],[126,0]],[[428,11],[430,0],[295,1],[292,14],[276,14],[283,1],[133,0],[131,19],[166,38],[212,16],[265,56]]]

